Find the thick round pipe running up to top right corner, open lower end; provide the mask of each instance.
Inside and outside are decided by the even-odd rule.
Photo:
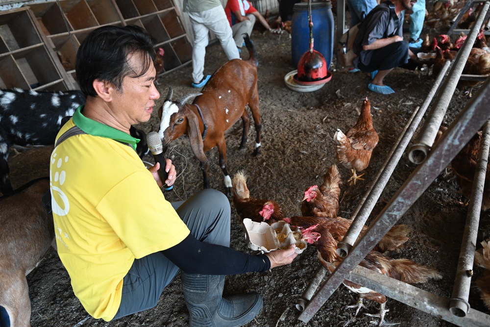
[[[482,11],[476,19],[474,27],[471,29],[466,38],[463,48],[458,51],[458,54],[454,59],[454,64],[452,65],[449,75],[445,79],[442,86],[443,91],[438,95],[434,107],[429,112],[429,116],[427,117],[425,124],[422,126],[417,141],[414,142],[414,146],[410,150],[411,153],[409,154],[409,158],[415,164],[424,162],[424,160],[427,158],[427,154],[431,150],[434,139],[436,138],[436,134],[439,130],[439,126],[441,126],[442,119],[444,118],[446,109],[449,105],[449,101],[451,101],[461,73],[465,68],[469,52],[471,51],[473,43],[478,36],[479,28],[475,27],[483,24],[483,19],[487,14],[489,6],[490,2],[485,2]]]

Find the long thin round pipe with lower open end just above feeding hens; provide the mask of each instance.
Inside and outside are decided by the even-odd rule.
[[[450,61],[445,62],[444,66],[441,69],[441,72],[437,76],[437,79],[432,89],[429,91],[427,97],[425,98],[424,102],[420,107],[417,107],[414,110],[412,117],[410,117],[404,129],[402,130],[400,137],[395,142],[392,150],[387,156],[387,159],[383,163],[383,166],[381,166],[381,168],[378,170],[378,173],[369,184],[368,191],[365,193],[364,197],[361,199],[361,201],[359,201],[354,211],[352,212],[350,217],[350,219],[352,220],[352,224],[347,230],[347,233],[344,235],[342,241],[340,241],[337,245],[337,254],[339,254],[341,257],[344,258],[347,256],[350,249],[352,249],[352,245],[357,240],[359,233],[361,233],[361,230],[368,220],[372,209],[376,205],[376,201],[378,201],[381,193],[383,192],[383,189],[388,183],[388,180],[392,176],[392,173],[396,165],[398,164],[398,161],[400,161],[403,152],[412,139],[412,136],[414,135],[418,124],[420,124],[420,121],[422,120],[425,111],[429,107],[432,98],[434,98],[434,95],[437,93],[437,89],[441,84],[441,81],[446,74],[447,69],[449,68],[449,64]]]

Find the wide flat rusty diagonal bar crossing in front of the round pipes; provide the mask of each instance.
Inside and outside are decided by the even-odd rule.
[[[490,79],[487,79],[475,96],[468,101],[453,124],[442,134],[441,139],[436,143],[427,159],[417,166],[415,171],[393,196],[390,203],[385,206],[368,227],[366,233],[354,244],[352,251],[326,279],[305,310],[299,314],[299,320],[305,323],[310,321],[323,303],[342,284],[345,277],[356,268],[368,252],[417,201],[456,154],[461,151],[474,133],[481,128],[482,122],[489,119],[490,111],[488,110],[487,101],[489,97]],[[422,299],[421,301],[425,300]]]

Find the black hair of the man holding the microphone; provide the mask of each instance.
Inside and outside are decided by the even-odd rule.
[[[102,26],[87,36],[76,54],[76,78],[85,96],[96,97],[93,82],[98,79],[121,90],[125,76],[144,75],[155,59],[155,40],[136,25]],[[142,70],[128,65],[131,55],[143,54]],[[151,60],[150,60],[151,59]]]

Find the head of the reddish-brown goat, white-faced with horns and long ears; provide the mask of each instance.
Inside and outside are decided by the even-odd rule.
[[[162,140],[164,147],[167,147],[170,142],[187,134],[191,142],[191,148],[196,158],[200,162],[206,162],[207,157],[203,151],[202,137],[199,129],[199,121],[196,114],[190,110],[186,102],[201,93],[191,93],[172,101],[173,89],[169,86],[169,93],[163,102],[163,105],[158,110],[160,117],[160,128],[158,135]]]

